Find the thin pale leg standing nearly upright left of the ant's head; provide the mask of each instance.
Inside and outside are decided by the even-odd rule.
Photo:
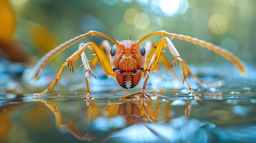
[[[81,49],[84,45],[85,45],[84,43],[80,43],[79,44],[79,49]],[[84,52],[81,54],[81,60],[83,62],[83,68],[85,70],[85,81],[86,81],[86,84],[87,84],[87,95],[86,95],[86,97],[87,97],[87,99],[90,99],[90,94],[92,94],[92,92],[91,92],[90,82],[89,82],[88,76],[93,75],[95,77],[95,79],[97,79],[97,78],[92,73],[92,71],[90,69],[90,65],[89,65],[88,60],[87,60],[87,57],[86,57]]]

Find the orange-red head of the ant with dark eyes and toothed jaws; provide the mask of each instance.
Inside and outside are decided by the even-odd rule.
[[[118,42],[123,49],[121,53],[116,44],[110,50],[110,62],[120,86],[123,88],[134,88],[141,78],[146,61],[146,50],[139,44],[135,49],[137,41],[123,40]]]

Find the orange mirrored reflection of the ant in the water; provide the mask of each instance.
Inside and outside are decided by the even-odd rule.
[[[49,101],[43,99],[34,100],[45,103],[45,106],[52,110],[56,118],[56,125],[58,128],[70,132],[71,134],[76,136],[77,139],[80,140],[90,141],[96,137],[99,137],[99,134],[90,134],[90,130],[94,128],[95,125],[99,126],[103,125],[103,123],[110,123],[111,121],[108,120],[121,117],[121,119],[124,120],[124,125],[121,125],[117,128],[109,128],[109,133],[105,134],[105,137],[102,139],[102,141],[104,141],[113,132],[120,131],[131,125],[139,123],[168,123],[171,121],[170,105],[173,101],[165,101],[166,103],[163,104],[163,101],[161,99],[151,94],[151,98],[149,99],[138,99],[137,96],[139,94],[140,93],[135,93],[126,97],[121,97],[119,100],[121,101],[120,103],[108,103],[106,106],[104,106],[104,108],[102,108],[102,110],[96,104],[97,102],[100,102],[101,99],[91,101],[87,99],[86,117],[83,125],[83,130],[86,129],[88,131],[85,134],[81,133],[80,130],[74,128],[77,125],[74,125],[74,121],[76,120],[73,119],[73,114],[69,116],[68,123],[63,123],[63,117],[61,116],[61,112],[58,110],[57,107],[52,106]],[[163,106],[161,106],[161,103]],[[189,118],[192,103],[193,101],[189,101],[185,105],[184,114],[187,119]],[[118,120],[113,120],[113,124],[118,124],[117,122]]]

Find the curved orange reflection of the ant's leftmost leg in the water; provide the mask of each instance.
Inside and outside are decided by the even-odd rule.
[[[49,101],[45,101],[45,100],[39,99],[39,98],[34,99],[34,101],[41,101],[41,102],[45,103],[45,106],[47,106],[50,110],[52,110],[52,112],[53,112],[53,114],[54,114],[54,116],[56,118],[56,125],[58,126],[58,128],[64,128],[65,130],[67,130],[68,132],[70,132],[71,134],[76,136],[76,138],[78,138],[80,140],[90,141],[90,140],[92,140],[94,138],[93,136],[89,136],[87,134],[85,134],[85,135],[79,134],[79,132],[77,132],[76,129],[74,129],[74,127],[72,127],[72,124],[73,124],[72,116],[69,117],[69,119],[68,119],[68,125],[63,124],[60,111],[58,110],[57,107],[54,108],[49,103]],[[87,109],[90,110],[89,107]]]

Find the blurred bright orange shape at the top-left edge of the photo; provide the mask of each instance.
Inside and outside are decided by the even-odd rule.
[[[16,29],[16,16],[7,0],[0,0],[0,43],[10,44]]]

